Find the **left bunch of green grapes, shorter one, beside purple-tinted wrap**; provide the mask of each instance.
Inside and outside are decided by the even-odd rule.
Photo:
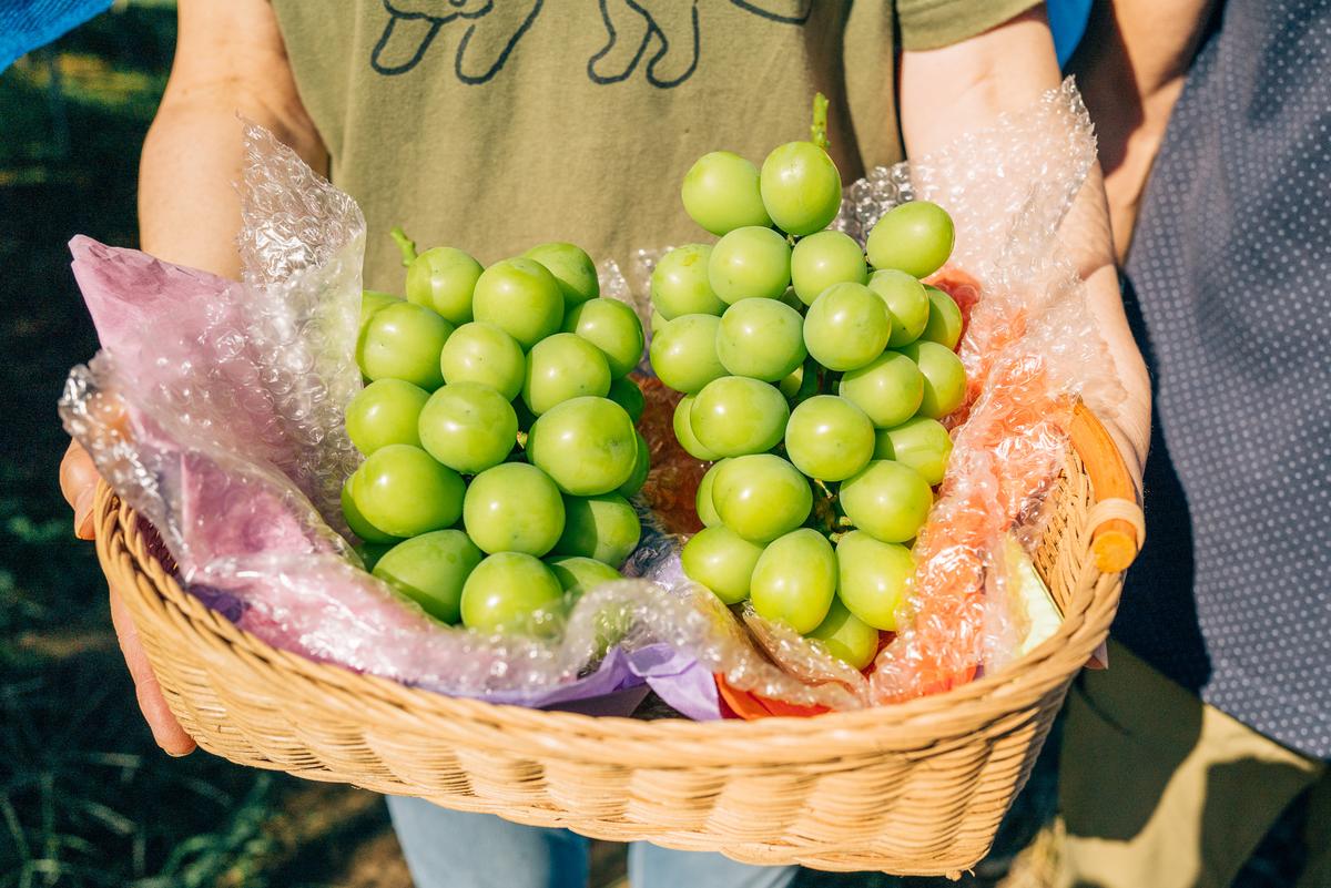
[[[406,298],[362,299],[342,513],[366,569],[435,619],[520,631],[638,546],[643,327],[571,243],[483,267],[394,238]]]

